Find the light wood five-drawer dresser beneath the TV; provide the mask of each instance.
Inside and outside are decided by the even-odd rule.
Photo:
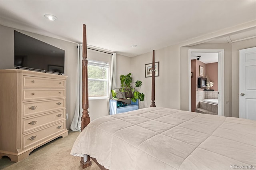
[[[47,142],[67,136],[66,76],[0,70],[0,157],[18,162]]]

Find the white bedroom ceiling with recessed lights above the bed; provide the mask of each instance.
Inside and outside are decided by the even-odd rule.
[[[88,45],[129,57],[254,20],[255,0],[0,0],[1,25],[82,43],[86,24]]]

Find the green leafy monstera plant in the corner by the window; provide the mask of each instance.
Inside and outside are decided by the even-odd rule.
[[[116,88],[119,89],[117,93],[114,89],[111,90],[113,99],[116,99],[117,94],[121,91],[125,93],[125,98],[132,99],[133,102],[136,102],[136,99],[138,99],[139,101],[144,101],[144,94],[136,91],[136,87],[140,87],[142,85],[142,82],[140,80],[137,80],[135,82],[135,87],[133,87],[131,75],[132,73],[129,73],[127,75],[120,75],[121,88]]]

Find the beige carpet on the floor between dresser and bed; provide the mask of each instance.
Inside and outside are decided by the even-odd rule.
[[[0,169],[4,170],[82,170],[80,157],[71,156],[70,151],[80,132],[69,131],[65,138],[57,138],[30,153],[20,162],[11,162],[4,156],[0,159]],[[85,170],[100,170],[92,161]]]

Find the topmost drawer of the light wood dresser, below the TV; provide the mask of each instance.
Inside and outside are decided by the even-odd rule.
[[[24,88],[65,88],[65,79],[23,76]]]

